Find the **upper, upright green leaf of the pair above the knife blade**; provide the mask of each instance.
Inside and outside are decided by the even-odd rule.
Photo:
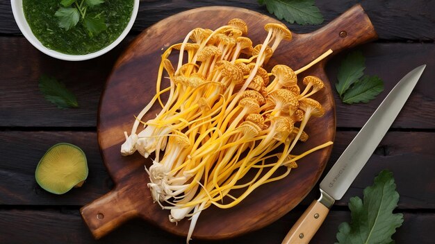
[[[338,83],[336,83],[336,89],[340,98],[343,98],[343,94],[345,94],[347,89],[363,76],[363,71],[366,69],[365,62],[361,51],[350,53],[343,62],[341,62],[337,74]]]

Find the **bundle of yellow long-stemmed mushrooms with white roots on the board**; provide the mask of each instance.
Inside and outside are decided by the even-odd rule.
[[[247,25],[241,19],[216,30],[191,30],[163,53],[156,96],[136,117],[131,134],[125,132],[122,155],[136,150],[154,155],[145,168],[149,189],[163,209],[170,209],[171,222],[190,218],[188,240],[199,214],[211,204],[233,207],[258,186],[286,177],[297,159],[331,145],[327,141],[291,154],[297,141],[308,139],[304,128],[310,117],[325,113],[311,98],[322,89],[322,80],[306,76],[300,89],[297,74],[331,51],[297,71],[278,64],[268,73],[264,64],[292,35],[282,24],[266,24],[265,30],[267,37],[256,46],[243,36]],[[168,59],[172,51],[179,51],[176,69]],[[163,71],[170,79],[165,89]],[[163,93],[169,94],[165,104]],[[160,103],[161,112],[141,121],[154,103]],[[140,124],[144,128],[138,132]],[[236,189],[243,193],[234,195]]]

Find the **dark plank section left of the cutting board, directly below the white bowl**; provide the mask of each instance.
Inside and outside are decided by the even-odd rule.
[[[22,37],[0,37],[0,126],[95,126],[104,81],[129,40],[95,60],[68,62],[44,55]],[[59,110],[47,102],[38,88],[42,74],[65,83],[79,108]]]

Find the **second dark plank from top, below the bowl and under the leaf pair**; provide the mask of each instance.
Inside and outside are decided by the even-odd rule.
[[[95,127],[99,96],[106,78],[133,37],[129,36],[106,55],[85,62],[55,60],[33,48],[23,37],[0,37],[0,62],[3,64],[0,66],[0,127]],[[337,126],[361,128],[400,78],[413,67],[425,63],[428,68],[393,128],[435,128],[435,89],[432,89],[435,72],[430,69],[435,67],[435,45],[370,43],[356,49],[366,56],[366,74],[382,78],[385,90],[375,101],[356,105],[341,103],[334,91]],[[331,58],[327,64],[331,83],[336,82],[338,66],[347,53]],[[80,107],[59,110],[47,103],[38,90],[38,78],[42,74],[65,82],[76,94]]]

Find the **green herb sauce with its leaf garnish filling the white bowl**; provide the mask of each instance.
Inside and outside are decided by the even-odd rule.
[[[35,37],[48,49],[94,53],[114,42],[129,24],[134,0],[23,0]]]

